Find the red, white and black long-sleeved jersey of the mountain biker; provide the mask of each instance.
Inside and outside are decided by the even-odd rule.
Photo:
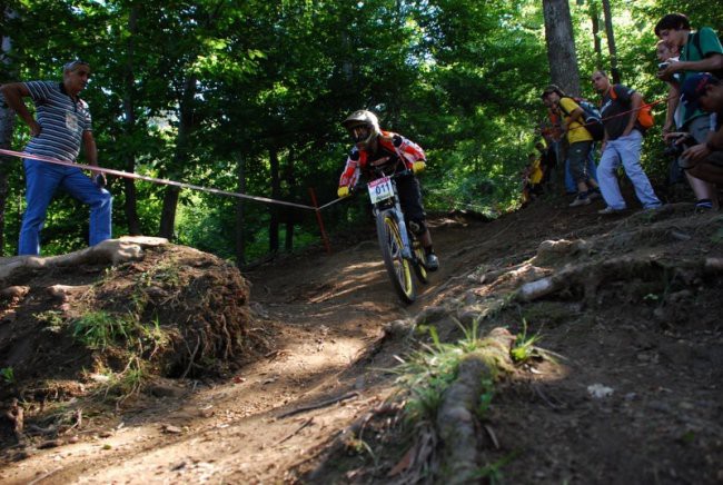
[[[361,174],[372,178],[372,166],[395,167],[402,161],[404,168],[410,170],[414,162],[419,160],[426,160],[422,147],[402,135],[382,131],[382,136],[377,138],[377,150],[374,154],[359,150],[357,147],[351,149],[339,178],[339,187],[354,187]]]

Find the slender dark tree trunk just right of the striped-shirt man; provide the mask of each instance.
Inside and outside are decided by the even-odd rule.
[[[133,77],[133,61],[135,61],[135,39],[138,34],[138,8],[131,7],[128,18],[128,52],[126,61],[126,93],[123,97],[123,112],[126,119],[123,120],[125,131],[127,139],[132,139],[136,130],[136,110],[135,110],[135,77]],[[123,166],[126,171],[136,171],[136,154],[130,149],[125,150]],[[126,191],[126,218],[128,219],[128,232],[131,236],[140,235],[140,218],[138,217],[138,197],[136,195],[136,182],[132,179],[123,179],[123,189]]]

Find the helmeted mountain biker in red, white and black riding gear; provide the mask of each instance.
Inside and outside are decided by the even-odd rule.
[[[375,168],[384,174],[410,170],[408,175],[396,179],[399,204],[407,219],[409,229],[419,238],[426,255],[424,266],[429,271],[439,268],[439,259],[432,246],[432,236],[425,222],[426,214],[422,206],[419,181],[414,174],[424,170],[426,157],[424,150],[414,141],[398,133],[383,131],[376,115],[366,109],[354,111],[341,121],[354,140],[354,148],[346,160],[346,167],[339,178],[339,197],[347,197],[359,177],[364,175],[373,180],[378,178]]]

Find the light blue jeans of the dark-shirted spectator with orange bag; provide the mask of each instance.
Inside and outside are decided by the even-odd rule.
[[[610,140],[605,145],[605,151],[600,158],[597,167],[597,182],[603,198],[610,207],[615,210],[625,208],[625,199],[620,192],[617,185],[617,167],[623,165],[627,178],[635,187],[635,195],[646,209],[660,207],[661,201],[653,191],[653,186],[641,166],[641,148],[643,135],[633,130],[626,137]]]

